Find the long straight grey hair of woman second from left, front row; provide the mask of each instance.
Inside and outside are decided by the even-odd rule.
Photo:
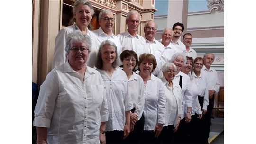
[[[117,67],[118,63],[119,63],[119,57],[118,57],[118,53],[117,53],[117,46],[115,45],[114,42],[112,42],[110,40],[105,40],[105,41],[101,42],[101,45],[99,46],[99,51],[97,53],[95,67],[98,68],[98,69],[103,68],[103,61],[102,61],[102,58],[101,58],[101,51],[102,51],[102,48],[103,48],[104,45],[110,45],[110,46],[115,48],[116,58],[115,58],[114,62],[112,63],[112,66],[114,68]]]

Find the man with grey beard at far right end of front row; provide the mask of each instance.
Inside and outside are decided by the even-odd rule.
[[[215,59],[215,55],[212,53],[206,53],[203,56],[204,66],[202,68],[203,74],[208,78],[208,92],[209,92],[209,105],[207,107],[207,113],[204,115],[204,120],[206,123],[205,127],[205,142],[208,143],[208,137],[210,133],[210,122],[211,122],[211,113],[214,105],[214,94],[219,92],[219,79],[218,73],[216,70],[212,69],[211,64]]]

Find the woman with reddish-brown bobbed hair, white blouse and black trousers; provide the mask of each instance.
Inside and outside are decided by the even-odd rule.
[[[157,144],[165,124],[165,90],[163,82],[155,77],[152,72],[156,68],[156,59],[152,54],[144,53],[139,56],[138,70],[144,82],[145,105],[143,115],[145,117],[144,131],[141,143]]]

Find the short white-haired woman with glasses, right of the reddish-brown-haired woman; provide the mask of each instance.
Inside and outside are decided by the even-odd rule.
[[[182,111],[182,90],[179,84],[173,82],[177,69],[174,63],[167,62],[162,67],[166,96],[165,126],[160,138],[162,144],[174,144],[174,133],[178,130]]]

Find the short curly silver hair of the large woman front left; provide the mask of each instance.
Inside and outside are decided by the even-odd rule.
[[[75,30],[67,35],[65,51],[68,52],[73,42],[86,43],[89,53],[91,52],[91,38],[80,30]]]

